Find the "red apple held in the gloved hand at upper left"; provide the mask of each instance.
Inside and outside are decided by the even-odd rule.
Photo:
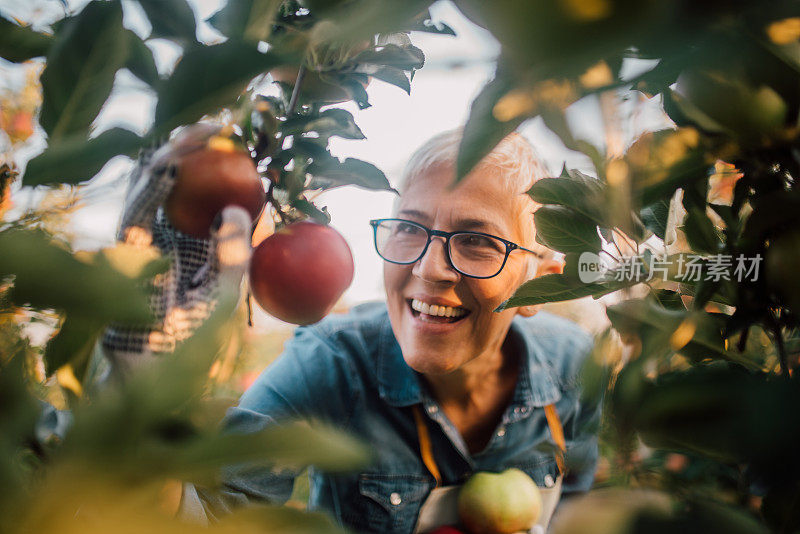
[[[165,209],[175,228],[207,238],[214,218],[224,207],[241,206],[255,220],[265,199],[261,178],[250,155],[235,148],[232,141],[217,142],[180,156],[178,174]]]

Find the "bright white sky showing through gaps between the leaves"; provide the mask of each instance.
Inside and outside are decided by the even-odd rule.
[[[219,0],[189,0],[195,10],[198,38],[204,41],[219,39],[213,28],[202,22],[224,4]],[[77,10],[85,0],[67,2],[70,9]],[[123,0],[126,27],[145,37],[149,23],[141,8],[131,0]],[[59,18],[63,13],[57,0],[0,0],[0,12],[31,20],[31,16],[47,22]],[[426,139],[442,131],[457,128],[465,123],[470,103],[481,87],[491,79],[494,59],[500,46],[492,35],[467,20],[449,1],[439,1],[431,8],[434,19],[446,22],[457,36],[439,36],[414,32],[412,42],[426,55],[425,66],[416,73],[411,84],[411,94],[380,81],[373,81],[367,88],[372,107],[359,110],[355,104],[345,103],[338,107],[353,113],[356,123],[366,135],[365,140],[353,141],[333,138],[331,151],[341,158],[355,157],[374,163],[396,183],[409,156]],[[159,70],[167,72],[180,55],[180,48],[162,39],[151,40],[148,45],[155,53]],[[0,75],[11,76],[8,63],[1,63]],[[635,67],[634,67],[635,68]],[[2,78],[2,76],[0,76]],[[652,128],[660,119],[657,103],[622,103],[635,105],[639,116],[649,119],[640,121],[637,129]],[[99,133],[114,126],[124,126],[144,133],[152,121],[155,96],[148,86],[127,71],[120,71],[115,81],[112,98],[98,117],[95,128]],[[604,125],[600,118],[596,99],[585,99],[573,105],[568,119],[576,135],[602,145]],[[632,138],[636,133],[625,123],[624,136]],[[566,150],[560,140],[536,119],[525,123],[520,130],[542,156],[548,169],[557,175],[564,163],[568,167],[590,171],[587,158]],[[20,154],[18,163],[43,150],[45,142],[39,136],[31,141]],[[77,236],[76,248],[96,249],[113,243],[122,206],[124,179],[131,168],[125,158],[115,158],[86,188],[86,207],[76,213],[71,230]],[[34,193],[29,193],[35,195]],[[374,252],[372,230],[368,221],[386,217],[391,213],[393,194],[371,192],[345,187],[317,197],[319,206],[327,206],[331,213],[331,225],[348,241],[355,259],[355,278],[344,295],[346,305],[383,297],[382,263]],[[257,325],[274,325],[266,316],[256,317]]]

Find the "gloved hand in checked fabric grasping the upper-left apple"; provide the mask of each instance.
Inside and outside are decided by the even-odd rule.
[[[131,175],[118,238],[130,245],[157,247],[170,260],[154,281],[150,305],[155,322],[141,328],[111,325],[103,349],[116,375],[124,375],[189,337],[214,308],[223,278],[241,283],[250,259],[250,215],[230,206],[219,216],[210,239],[175,230],[162,206],[177,176],[180,157],[205,146],[219,127],[196,124],[155,151],[142,154]]]

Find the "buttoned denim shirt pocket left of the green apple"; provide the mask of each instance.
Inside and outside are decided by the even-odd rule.
[[[410,533],[429,491],[430,482],[421,475],[362,474],[359,502],[347,522],[361,532]]]

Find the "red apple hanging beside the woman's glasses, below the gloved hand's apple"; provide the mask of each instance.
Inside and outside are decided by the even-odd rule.
[[[253,251],[250,287],[267,313],[294,324],[316,323],[353,281],[353,255],[329,226],[290,224]]]

